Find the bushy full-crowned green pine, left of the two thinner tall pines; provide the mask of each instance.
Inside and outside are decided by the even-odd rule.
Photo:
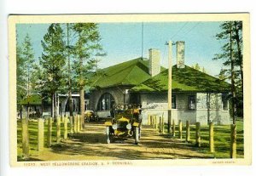
[[[58,99],[57,93],[65,87],[66,64],[65,42],[63,41],[63,31],[60,24],[51,24],[48,32],[41,41],[44,52],[39,58],[39,64],[42,67],[40,74],[42,92],[51,97],[52,116],[58,116]]]

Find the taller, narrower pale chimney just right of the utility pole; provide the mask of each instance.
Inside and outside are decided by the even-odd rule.
[[[177,68],[185,67],[185,42],[177,41]]]

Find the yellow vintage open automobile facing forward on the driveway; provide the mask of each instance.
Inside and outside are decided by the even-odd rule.
[[[137,145],[141,136],[140,110],[131,106],[128,109],[114,108],[111,114],[112,118],[105,122],[107,143],[110,144],[113,138],[133,137]]]

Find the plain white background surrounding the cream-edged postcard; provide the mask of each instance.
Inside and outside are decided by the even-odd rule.
[[[83,3],[84,2],[84,3]],[[188,13],[188,12],[251,12],[251,38],[255,37],[255,26],[253,20],[255,20],[255,14],[253,14],[253,1],[243,0],[243,1],[204,1],[204,0],[194,0],[194,1],[184,1],[179,0],[177,3],[170,3],[170,1],[135,1],[130,0],[124,3],[121,0],[114,1],[50,1],[50,0],[2,0],[0,3],[0,13],[1,19],[0,23],[3,28],[0,30],[0,93],[2,94],[0,99],[0,125],[1,125],[1,167],[0,175],[55,175],[61,173],[61,175],[68,175],[74,172],[74,174],[104,174],[106,173],[124,173],[124,175],[131,175],[131,173],[139,173],[144,170],[147,170],[148,175],[155,175],[155,172],[158,174],[189,174],[189,175],[216,175],[222,173],[224,175],[252,175],[255,171],[254,158],[255,154],[253,152],[253,166],[251,167],[139,167],[139,168],[10,168],[9,167],[9,106],[8,106],[8,52],[7,52],[7,15],[8,14],[84,14],[84,13]],[[5,4],[4,4],[5,3]],[[61,4],[60,4],[61,3]],[[252,47],[255,48],[254,40],[251,41]],[[255,52],[252,49],[251,58],[255,58]],[[255,61],[252,60],[252,77],[255,77]],[[254,82],[252,84],[252,90],[255,90]],[[252,92],[253,98],[255,94]],[[253,105],[253,109],[255,105]],[[255,115],[253,111],[252,116]],[[253,123],[255,122],[254,119]],[[254,133],[254,129],[253,129]],[[254,144],[254,140],[253,140]],[[255,145],[253,145],[255,146]],[[75,170],[74,170],[75,169]],[[125,172],[124,172],[125,171]],[[132,172],[131,172],[132,171]],[[95,173],[94,173],[95,172]],[[255,173],[255,172],[254,172]],[[109,174],[109,175],[110,175]],[[142,174],[142,173],[140,173]],[[145,174],[145,173],[144,173]],[[113,175],[113,174],[112,174]]]

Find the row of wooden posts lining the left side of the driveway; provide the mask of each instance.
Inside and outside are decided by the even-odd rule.
[[[55,120],[56,126],[56,143],[61,142],[61,122],[64,125],[63,139],[67,140],[67,124],[69,123],[69,133],[80,133],[83,129],[83,119],[81,116],[58,116]],[[53,118],[49,117],[46,119],[45,124],[47,125],[47,146],[52,145],[52,128],[53,128]],[[21,120],[22,128],[22,154],[25,158],[29,157],[29,131],[28,131],[28,119],[23,118]],[[38,151],[44,150],[44,118],[38,118]]]

